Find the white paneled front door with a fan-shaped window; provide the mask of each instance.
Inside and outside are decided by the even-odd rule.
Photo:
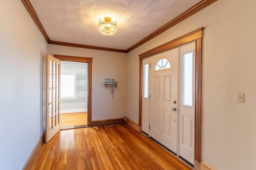
[[[178,48],[150,63],[150,137],[177,153]]]

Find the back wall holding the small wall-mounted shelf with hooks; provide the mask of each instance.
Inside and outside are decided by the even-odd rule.
[[[92,120],[124,117],[127,114],[127,57],[125,53],[114,53],[48,45],[50,55],[69,55],[92,59]],[[118,89],[112,92],[104,86],[105,78],[118,81]]]

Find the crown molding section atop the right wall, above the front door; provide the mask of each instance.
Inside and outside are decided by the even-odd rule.
[[[167,29],[170,29],[171,27],[173,27],[174,25],[180,23],[181,21],[186,20],[190,16],[196,14],[200,10],[206,8],[207,6],[209,6],[210,4],[212,4],[212,3],[216,2],[216,1],[217,0],[202,0],[202,1],[200,1],[198,4],[192,6],[186,12],[182,13],[180,16],[174,18],[172,21],[166,23],[164,26],[162,26],[158,30],[154,31],[152,34],[148,35],[146,38],[142,39],[140,42],[138,42],[135,45],[133,45],[132,47],[128,48],[127,52],[129,53],[130,51],[136,49],[140,45],[150,41],[151,39],[153,39],[154,37],[160,35],[164,31],[166,31]]]

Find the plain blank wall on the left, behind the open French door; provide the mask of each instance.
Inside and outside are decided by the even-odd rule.
[[[44,131],[46,41],[19,0],[0,0],[0,169],[22,169]]]

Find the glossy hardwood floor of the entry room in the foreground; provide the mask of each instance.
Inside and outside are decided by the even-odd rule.
[[[32,170],[191,170],[127,124],[59,131]]]

